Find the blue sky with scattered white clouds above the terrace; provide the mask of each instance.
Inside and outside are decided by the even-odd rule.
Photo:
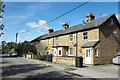
[[[74,26],[86,21],[88,13],[93,13],[95,19],[110,14],[118,15],[118,2],[90,2],[75,11],[31,31],[51,19],[79,6],[83,2],[5,2],[2,22],[5,28],[0,41],[15,41],[18,33],[18,42],[31,41],[48,33],[49,28],[54,31],[62,29],[63,23]],[[100,15],[101,14],[101,15]],[[29,31],[29,32],[26,32]]]

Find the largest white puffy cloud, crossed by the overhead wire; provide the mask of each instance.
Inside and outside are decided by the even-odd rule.
[[[28,23],[26,23],[26,25],[31,27],[32,29],[39,27],[39,28],[37,28],[37,31],[39,33],[42,33],[42,34],[44,32],[41,29],[44,29],[44,30],[49,29],[49,27],[47,26],[47,22],[45,20],[39,20],[38,23],[36,23],[36,22],[28,22]]]

